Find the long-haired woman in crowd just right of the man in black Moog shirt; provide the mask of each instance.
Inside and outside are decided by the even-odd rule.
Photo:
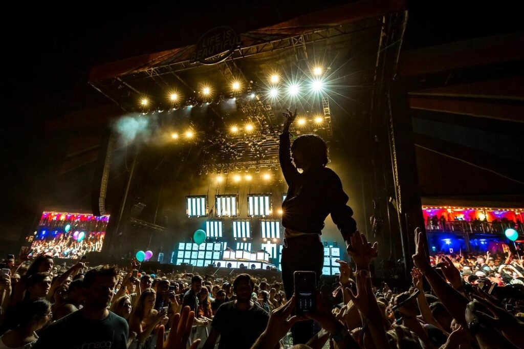
[[[165,309],[161,311],[154,309],[155,300],[155,290],[146,288],[142,291],[129,318],[129,331],[137,333],[136,339],[139,343],[145,342],[158,324],[164,325],[169,320]]]

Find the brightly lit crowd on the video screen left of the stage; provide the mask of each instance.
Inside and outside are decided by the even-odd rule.
[[[55,258],[80,259],[89,252],[100,252],[105,234],[89,234],[82,241],[60,234],[53,239],[35,239],[31,244],[31,255],[46,254]]]

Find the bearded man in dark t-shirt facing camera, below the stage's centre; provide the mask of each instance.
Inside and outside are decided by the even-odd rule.
[[[222,304],[211,323],[211,333],[203,349],[212,349],[220,335],[219,349],[249,349],[266,329],[269,314],[251,300],[255,283],[247,274],[233,282],[235,301]]]

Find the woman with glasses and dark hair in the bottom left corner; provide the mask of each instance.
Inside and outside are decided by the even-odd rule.
[[[10,330],[0,337],[0,349],[29,349],[38,340],[36,331],[52,317],[51,303],[45,298],[20,303],[16,321],[10,323]]]

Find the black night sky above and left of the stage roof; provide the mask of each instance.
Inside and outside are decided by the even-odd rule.
[[[27,202],[42,193],[39,173],[47,155],[39,145],[41,126],[73,110],[108,102],[87,84],[91,67],[194,43],[217,25],[242,32],[346,2],[187,3],[122,3],[113,8],[91,2],[60,8],[31,4],[30,9],[23,3],[23,8],[4,13],[10,20],[2,21],[2,80],[9,105],[3,121],[3,213],[24,215]],[[422,7],[425,3],[410,4],[405,48],[522,28],[520,12],[505,6],[509,2],[447,1],[431,8]],[[0,219],[5,219],[3,214]]]

